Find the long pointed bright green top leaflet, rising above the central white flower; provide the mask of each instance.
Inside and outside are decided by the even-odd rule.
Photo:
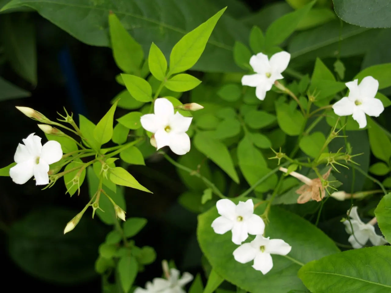
[[[169,75],[186,71],[197,63],[217,21],[226,8],[183,36],[172,48]]]

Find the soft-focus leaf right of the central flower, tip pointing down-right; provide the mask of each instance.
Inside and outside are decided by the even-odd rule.
[[[224,144],[201,131],[195,134],[193,143],[197,150],[216,163],[233,181],[239,183],[230,152]]]

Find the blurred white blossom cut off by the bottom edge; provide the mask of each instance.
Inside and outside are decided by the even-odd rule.
[[[186,293],[183,287],[193,280],[193,275],[185,272],[179,279],[179,271],[172,268],[168,280],[154,278],[152,282],[145,284],[145,289],[136,288],[134,293]]]

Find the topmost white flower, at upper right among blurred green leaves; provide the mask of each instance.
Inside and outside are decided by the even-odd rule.
[[[278,52],[267,58],[267,55],[258,53],[250,58],[250,65],[255,74],[242,77],[243,86],[255,87],[255,95],[258,99],[264,100],[266,92],[271,90],[274,82],[284,77],[281,73],[287,69],[291,54]]]

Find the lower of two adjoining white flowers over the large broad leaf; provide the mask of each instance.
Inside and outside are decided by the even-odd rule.
[[[269,239],[257,235],[250,243],[243,243],[233,252],[233,257],[239,263],[248,263],[254,260],[253,268],[263,274],[273,268],[271,254],[287,255],[292,247],[282,239]]]

